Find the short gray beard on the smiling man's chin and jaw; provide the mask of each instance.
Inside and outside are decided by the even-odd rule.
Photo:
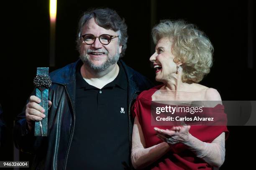
[[[90,67],[92,71],[95,71],[98,73],[100,71],[107,70],[111,65],[115,64],[119,60],[120,54],[116,53],[114,56],[107,55],[107,60],[100,65],[95,65],[94,63],[92,63],[89,59],[90,56],[87,53],[82,54],[79,57],[82,60],[82,62],[85,64],[85,66]]]

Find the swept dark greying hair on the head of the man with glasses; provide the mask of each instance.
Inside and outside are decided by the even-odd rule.
[[[122,45],[122,52],[120,57],[124,56],[125,49],[127,48],[127,25],[125,20],[120,18],[115,10],[109,8],[97,8],[86,11],[79,20],[78,32],[77,32],[77,50],[80,50],[82,36],[82,28],[85,23],[91,18],[95,18],[95,22],[102,28],[111,29],[113,31],[118,31],[118,42]]]

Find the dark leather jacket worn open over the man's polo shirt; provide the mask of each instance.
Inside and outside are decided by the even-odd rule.
[[[29,152],[35,155],[32,162],[32,169],[66,169],[76,122],[75,72],[78,62],[82,61],[78,60],[50,74],[52,86],[49,89],[49,100],[52,101],[52,106],[48,113],[47,137],[35,137],[33,130],[32,132],[28,131],[25,115],[26,107],[24,107],[23,112],[16,118],[14,127],[15,146],[23,152]],[[126,66],[123,61],[118,61],[118,64],[123,66],[125,74],[128,77],[128,121],[131,148],[133,126],[131,106],[136,96],[141,91],[151,88],[153,84],[144,76]]]

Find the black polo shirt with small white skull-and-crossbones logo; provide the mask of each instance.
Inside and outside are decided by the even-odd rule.
[[[88,84],[77,67],[76,120],[68,170],[123,170],[129,165],[127,87],[124,69],[102,89]]]

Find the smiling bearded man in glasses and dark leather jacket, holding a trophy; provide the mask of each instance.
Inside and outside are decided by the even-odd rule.
[[[15,145],[36,155],[32,169],[131,168],[131,106],[152,84],[119,60],[127,39],[127,26],[115,11],[84,13],[79,61],[50,74],[48,136],[33,136],[34,121],[45,117],[36,96],[15,124]]]

